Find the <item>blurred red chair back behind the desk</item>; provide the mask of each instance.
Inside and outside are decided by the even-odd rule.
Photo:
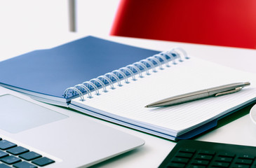
[[[121,0],[114,36],[256,48],[255,0]]]

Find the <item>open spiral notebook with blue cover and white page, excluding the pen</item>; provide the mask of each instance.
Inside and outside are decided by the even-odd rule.
[[[161,108],[151,102],[236,82],[240,92]],[[255,79],[192,57],[182,48],[148,50],[87,36],[0,62],[0,85],[50,104],[166,139],[188,139],[256,100]]]

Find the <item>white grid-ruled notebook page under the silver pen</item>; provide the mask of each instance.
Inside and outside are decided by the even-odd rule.
[[[163,68],[156,69],[156,73],[150,71],[149,76],[143,73],[144,78],[136,76],[135,81],[129,78],[130,83],[122,82],[121,87],[115,85],[114,90],[108,86],[108,92],[100,92],[98,96],[93,93],[92,99],[86,98],[83,102],[79,98],[74,99],[72,104],[130,123],[140,123],[154,130],[159,129],[163,133],[179,134],[189,127],[222,116],[228,109],[256,97],[255,81],[248,73],[193,57]],[[247,81],[251,85],[234,94],[175,106],[144,108],[147,104],[178,94]]]

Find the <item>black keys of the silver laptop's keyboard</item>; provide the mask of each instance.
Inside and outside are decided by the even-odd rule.
[[[55,162],[0,137],[0,168],[36,168]]]

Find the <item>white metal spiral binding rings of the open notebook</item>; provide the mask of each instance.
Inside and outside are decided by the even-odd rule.
[[[189,59],[187,53],[182,48],[172,48],[166,52],[160,52],[159,54],[129,64],[121,69],[105,73],[105,75],[98,76],[90,81],[83,82],[74,87],[68,87],[64,92],[64,97],[69,98],[79,95],[81,101],[85,101],[83,95],[88,94],[88,98],[91,99],[93,98],[93,91],[96,95],[100,95],[100,88],[102,88],[103,92],[108,92],[107,85],[110,86],[110,89],[114,90],[114,83],[117,83],[119,87],[122,86],[121,80],[124,80],[125,83],[129,83],[128,78],[130,77],[132,80],[137,80],[135,78],[136,74],[138,74],[140,78],[143,78],[144,76],[142,75],[142,72],[145,72],[146,75],[150,75],[149,69],[152,69],[153,72],[157,72],[156,67],[163,70],[163,64],[166,64],[166,67],[170,67],[169,62],[177,64],[176,59],[178,59],[179,62],[183,62],[181,55],[184,59]]]

